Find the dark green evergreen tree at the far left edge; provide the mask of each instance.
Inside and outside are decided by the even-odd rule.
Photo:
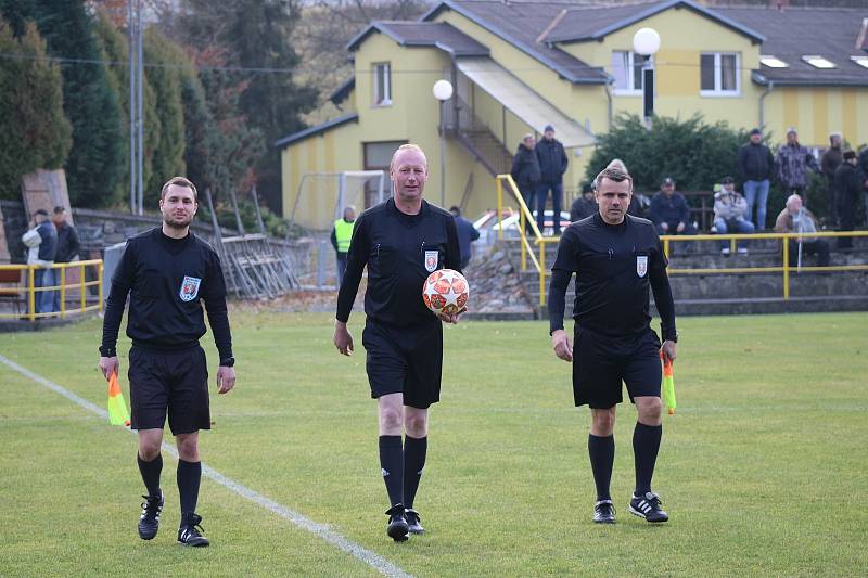
[[[36,26],[24,24],[20,39],[0,20],[0,196],[21,198],[21,178],[38,168],[63,166],[72,126],[63,114],[60,67],[46,60]]]

